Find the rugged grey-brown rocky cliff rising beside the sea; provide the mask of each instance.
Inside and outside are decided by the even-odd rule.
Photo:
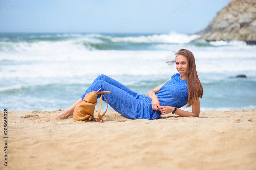
[[[206,41],[245,41],[256,44],[256,0],[232,0],[209,23],[201,38]]]

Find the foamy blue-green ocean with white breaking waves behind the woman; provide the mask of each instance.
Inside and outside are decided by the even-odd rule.
[[[182,48],[195,56],[204,88],[200,110],[256,109],[255,45],[157,30],[96,34],[70,28],[67,33],[0,33],[0,110],[67,109],[100,74],[146,95],[177,73],[165,61]]]

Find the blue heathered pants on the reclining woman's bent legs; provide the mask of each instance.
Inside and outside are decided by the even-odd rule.
[[[94,80],[81,98],[83,99],[87,93],[97,91],[99,88],[101,88],[100,91],[111,91],[111,93],[104,94],[108,104],[115,111],[129,119],[152,120],[161,116],[161,113],[159,114],[159,112],[152,109],[149,97],[133,92],[125,85],[104,74],[99,75]],[[100,98],[100,94],[98,98]],[[104,98],[102,100],[105,101]]]

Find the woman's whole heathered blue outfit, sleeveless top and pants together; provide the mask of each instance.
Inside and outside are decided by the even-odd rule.
[[[181,108],[187,104],[187,81],[181,80],[179,77],[179,73],[174,74],[171,80],[168,80],[156,93],[161,106]],[[150,97],[145,94],[135,93],[125,85],[104,74],[99,75],[94,80],[81,98],[83,99],[87,93],[97,91],[99,88],[101,88],[100,91],[111,91],[111,93],[104,94],[108,104],[115,111],[129,119],[153,120],[162,115],[161,111],[152,109]],[[97,99],[99,97],[100,94]],[[104,98],[103,101],[105,101]]]

